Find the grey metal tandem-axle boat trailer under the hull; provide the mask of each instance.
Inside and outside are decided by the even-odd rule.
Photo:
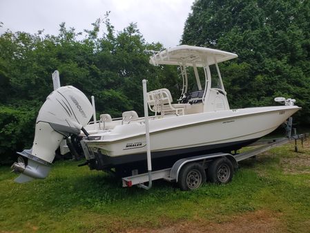
[[[309,137],[309,133],[291,136],[291,138],[275,138],[271,140],[261,140],[254,142],[249,147],[256,147],[244,153],[211,153],[191,158],[182,158],[177,160],[173,167],[158,171],[151,171],[151,180],[164,179],[169,182],[178,183],[182,190],[197,189],[206,181],[204,170],[208,171],[208,178],[213,183],[228,183],[233,171],[238,168],[238,162],[247,158],[255,157],[260,153],[280,147],[288,142],[295,140],[295,151],[298,151],[297,140],[303,143]],[[149,173],[135,174],[122,178],[123,187],[146,187],[144,183],[148,182]]]

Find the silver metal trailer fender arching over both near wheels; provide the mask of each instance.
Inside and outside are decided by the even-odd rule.
[[[209,153],[209,154],[202,155],[202,156],[194,156],[191,158],[182,158],[180,160],[177,160],[177,162],[175,162],[175,164],[171,168],[170,180],[175,180],[175,182],[177,182],[179,179],[180,170],[188,162],[199,162],[200,160],[206,160],[206,159],[211,159],[211,158],[219,158],[219,157],[228,158],[229,160],[231,160],[231,162],[233,162],[234,167],[235,166],[238,167],[237,161],[235,160],[235,158],[230,153]]]

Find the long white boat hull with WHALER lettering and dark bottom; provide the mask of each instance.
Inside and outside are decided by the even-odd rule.
[[[239,149],[271,133],[298,109],[298,106],[270,106],[151,120],[152,158]],[[146,160],[144,122],[118,125],[111,131],[93,135],[99,136],[101,140],[85,142],[88,149],[109,160],[108,164]]]

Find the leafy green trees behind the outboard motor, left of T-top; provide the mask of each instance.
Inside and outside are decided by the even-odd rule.
[[[172,73],[171,68],[148,63],[150,51],[161,49],[161,44],[146,43],[135,24],[115,32],[108,16],[97,19],[84,35],[64,23],[56,36],[42,31],[4,32],[0,35],[0,161],[31,147],[37,113],[52,92],[53,71],[59,71],[62,86],[75,86],[89,98],[95,95],[98,113],[119,117],[135,109],[142,115],[142,80],[149,80],[149,89],[159,88],[166,84],[164,75]]]

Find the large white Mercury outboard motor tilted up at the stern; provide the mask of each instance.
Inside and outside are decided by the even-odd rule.
[[[21,156],[12,169],[20,175],[15,181],[26,183],[34,178],[46,178],[61,140],[81,130],[87,136],[84,126],[92,115],[93,106],[79,89],[61,86],[50,93],[37,116],[32,149],[17,152]]]

